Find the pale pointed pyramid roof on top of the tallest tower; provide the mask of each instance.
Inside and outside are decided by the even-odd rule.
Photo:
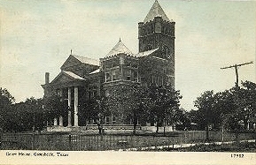
[[[151,10],[144,19],[144,23],[153,20],[155,17],[161,17],[163,20],[170,21],[170,19],[167,18],[165,11],[162,9],[157,0],[152,5]]]

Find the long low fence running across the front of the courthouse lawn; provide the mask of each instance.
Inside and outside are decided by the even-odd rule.
[[[211,141],[219,142],[222,140],[222,134],[219,131],[210,131],[209,138]],[[223,136],[224,141],[234,141],[235,138],[234,133],[226,132]],[[4,133],[1,149],[100,151],[199,143],[205,139],[205,131],[180,131],[167,134],[167,136],[157,134]],[[255,133],[240,133],[239,139],[255,139]]]

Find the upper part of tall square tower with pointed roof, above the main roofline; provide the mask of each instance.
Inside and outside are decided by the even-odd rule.
[[[156,0],[144,22],[138,23],[139,52],[159,49],[155,56],[174,62],[175,21],[167,18],[165,11]]]

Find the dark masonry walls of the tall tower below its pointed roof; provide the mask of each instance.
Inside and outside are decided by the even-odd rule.
[[[156,17],[138,24],[139,52],[158,49],[150,56],[141,57],[139,74],[146,85],[171,85],[175,88],[175,22]],[[166,60],[152,58],[157,56]]]

